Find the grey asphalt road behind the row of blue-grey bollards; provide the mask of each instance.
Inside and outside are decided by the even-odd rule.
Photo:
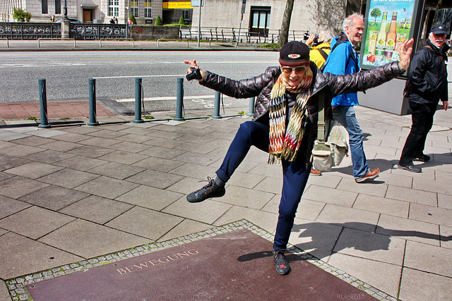
[[[96,97],[134,108],[135,78],[143,79],[145,109],[175,108],[177,78],[184,59],[234,79],[250,78],[278,63],[270,51],[40,51],[0,53],[0,103],[38,102],[38,80],[46,80],[48,101],[88,99],[88,80],[96,79]],[[186,109],[213,106],[212,90],[184,80]],[[225,106],[244,106],[225,97]]]

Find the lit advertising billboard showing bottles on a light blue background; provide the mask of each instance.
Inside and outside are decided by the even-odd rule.
[[[415,30],[420,0],[368,0],[361,45],[361,68],[398,61],[400,47]]]

